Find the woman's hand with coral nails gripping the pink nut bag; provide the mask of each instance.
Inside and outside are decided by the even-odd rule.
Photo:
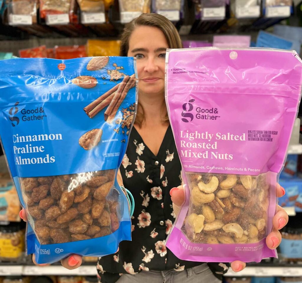
[[[284,188],[279,184],[276,186],[276,192],[278,197],[282,197],[285,194]],[[171,199],[173,202],[173,209],[176,215],[180,211],[180,207],[185,200],[185,194],[183,186],[178,186],[177,188],[172,188],[170,190]],[[288,223],[288,214],[285,210],[278,205],[277,213],[273,218],[274,229],[266,237],[266,245],[269,249],[276,249],[281,243],[281,233],[278,231],[283,228]],[[234,272],[239,272],[246,267],[246,263],[236,260],[231,263],[231,268]]]

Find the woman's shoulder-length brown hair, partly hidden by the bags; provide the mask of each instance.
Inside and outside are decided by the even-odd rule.
[[[159,14],[142,14],[139,17],[133,19],[130,23],[126,24],[121,36],[120,56],[128,56],[127,54],[129,50],[129,39],[132,32],[137,26],[159,28],[165,35],[169,48],[182,48],[182,41],[179,37],[178,31],[171,23],[171,21]],[[162,105],[161,111],[166,111],[165,102]],[[138,103],[135,124],[141,127],[144,119],[144,109],[140,105],[140,103]],[[168,121],[168,113],[166,113],[165,119],[162,122]]]

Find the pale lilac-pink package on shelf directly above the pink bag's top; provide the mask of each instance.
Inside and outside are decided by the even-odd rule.
[[[249,35],[214,35],[213,46],[219,48],[247,48],[251,44]]]

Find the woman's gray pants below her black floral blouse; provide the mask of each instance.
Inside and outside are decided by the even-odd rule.
[[[117,283],[221,283],[206,263],[183,271],[142,271],[123,274]]]

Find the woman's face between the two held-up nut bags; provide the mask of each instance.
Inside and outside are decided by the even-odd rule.
[[[165,92],[165,54],[169,48],[162,31],[155,27],[139,26],[129,40],[128,56],[137,57],[140,94]]]

